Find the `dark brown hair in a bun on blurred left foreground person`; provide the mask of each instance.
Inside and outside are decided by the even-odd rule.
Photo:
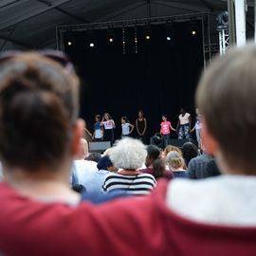
[[[37,53],[0,64],[0,157],[4,165],[36,172],[56,169],[70,155],[78,114],[78,79]]]

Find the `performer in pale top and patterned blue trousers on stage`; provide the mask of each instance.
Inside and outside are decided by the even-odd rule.
[[[191,114],[187,113],[184,108],[180,109],[180,115],[178,116],[178,123],[176,131],[178,131],[178,138],[190,138],[191,137]]]

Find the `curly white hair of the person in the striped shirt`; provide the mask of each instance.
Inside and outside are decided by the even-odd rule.
[[[110,159],[118,168],[136,171],[144,164],[146,156],[146,147],[140,140],[125,137],[112,148]]]

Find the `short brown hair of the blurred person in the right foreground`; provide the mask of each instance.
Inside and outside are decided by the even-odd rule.
[[[202,76],[196,101],[229,167],[255,174],[256,47],[229,49]]]

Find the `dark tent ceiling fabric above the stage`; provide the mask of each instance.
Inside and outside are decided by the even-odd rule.
[[[208,12],[212,27],[216,14],[228,9],[227,0],[2,0],[0,50],[55,47],[58,25],[146,18],[148,2],[152,17]],[[253,0],[247,4],[253,9]]]

